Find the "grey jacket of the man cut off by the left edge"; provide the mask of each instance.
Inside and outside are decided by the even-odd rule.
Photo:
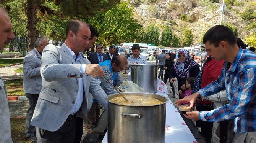
[[[5,83],[0,76],[0,143],[12,143],[10,113]]]

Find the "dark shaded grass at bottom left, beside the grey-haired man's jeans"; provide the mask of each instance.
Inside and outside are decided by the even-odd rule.
[[[25,136],[25,118],[11,119],[11,138],[13,143],[32,143]]]

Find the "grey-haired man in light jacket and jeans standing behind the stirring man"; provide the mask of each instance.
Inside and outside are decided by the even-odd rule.
[[[26,97],[29,100],[29,109],[26,116],[25,134],[26,137],[36,142],[36,129],[30,125],[39,93],[42,89],[42,77],[40,75],[40,66],[42,52],[49,42],[45,37],[38,37],[35,41],[35,48],[32,49],[23,60],[23,88]]]

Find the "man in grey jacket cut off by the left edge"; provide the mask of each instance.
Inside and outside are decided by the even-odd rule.
[[[0,7],[0,50],[14,38],[10,17]],[[12,143],[10,113],[5,83],[0,76],[0,143]]]

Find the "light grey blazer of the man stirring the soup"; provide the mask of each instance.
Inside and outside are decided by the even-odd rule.
[[[81,58],[80,62],[90,64],[85,58]],[[31,120],[32,126],[53,132],[63,125],[76,101],[78,78],[83,78],[84,83],[83,118],[86,119],[93,98],[107,109],[107,95],[90,75],[80,75],[80,67],[81,64],[76,64],[65,44],[44,48],[40,68],[43,87]],[[76,76],[68,76],[71,74]],[[88,95],[89,92],[92,96]]]

